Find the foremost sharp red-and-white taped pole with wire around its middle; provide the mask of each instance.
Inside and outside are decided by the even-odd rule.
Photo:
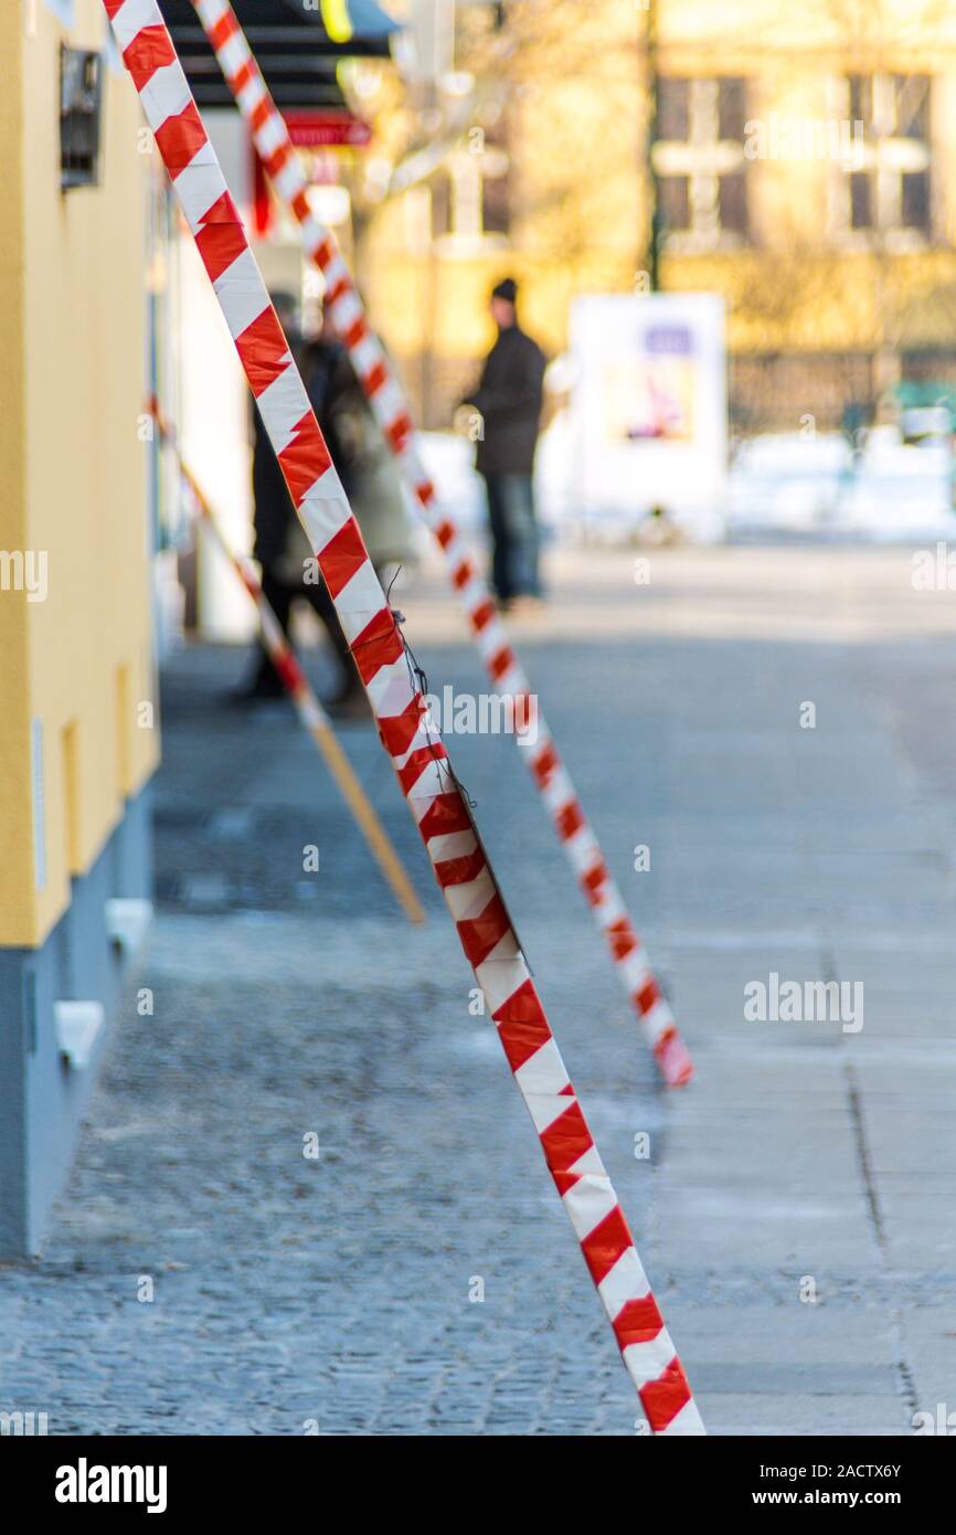
[[[703,1434],[468,804],[269,301],[157,0],[103,0],[193,233],[285,484],[328,585],[462,949],[490,1004],[594,1283],[654,1434]]]

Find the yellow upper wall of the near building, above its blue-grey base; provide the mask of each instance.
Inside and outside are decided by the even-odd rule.
[[[37,946],[158,760],[144,447],[140,104],[106,71],[98,187],[60,190],[60,43],[100,48],[100,0],[63,34],[0,8],[0,548],[46,551],[46,600],[0,593],[0,944]],[[9,258],[9,259],[8,259]],[[12,275],[12,278],[11,278]],[[31,721],[43,723],[37,889]],[[146,728],[143,728],[143,723]]]

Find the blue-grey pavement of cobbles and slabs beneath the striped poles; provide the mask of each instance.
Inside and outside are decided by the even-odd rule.
[[[520,748],[453,757],[710,1431],[911,1432],[956,1409],[953,600],[899,550],[649,559],[649,585],[629,553],[555,560],[517,639],[691,1088],[657,1085]],[[407,632],[433,691],[480,692],[439,591],[402,597]],[[223,705],[241,668],[167,668],[158,921],[46,1251],[0,1269],[0,1408],[55,1434],[634,1434],[374,732],[342,729],[422,930],[292,714]],[[859,982],[864,1027],[744,1021],[772,972]]]

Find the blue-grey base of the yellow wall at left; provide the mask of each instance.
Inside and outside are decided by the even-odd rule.
[[[100,1001],[107,1024],[124,962],[106,930],[106,901],[152,895],[149,789],[92,869],[74,880],[72,901],[41,949],[0,947],[0,1260],[34,1257],[61,1193],[80,1124],[106,1047],[71,1067],[57,1047],[54,1004]]]

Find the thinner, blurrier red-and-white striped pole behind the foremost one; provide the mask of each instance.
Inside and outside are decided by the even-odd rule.
[[[371,330],[335,235],[312,212],[299,157],[232,5],[229,0],[192,0],[192,3],[236,104],[250,126],[265,172],[302,226],[307,255],[325,276],[335,328],[348,348],[385,441],[399,459],[408,487],[442,546],[451,585],[465,608],[491,685],[497,692],[511,697],[517,709],[519,700],[531,694],[531,683],[511,648],[486,582],[471,560],[453,517],[437,502],[434,485],[422,464],[401,385],[388,365],[381,341]],[[691,1079],[691,1056],[540,709],[537,743],[526,746],[522,757],[531,769],[594,919],[605,935],[618,979],[641,1021],[660,1071],[671,1087],[680,1087]]]

